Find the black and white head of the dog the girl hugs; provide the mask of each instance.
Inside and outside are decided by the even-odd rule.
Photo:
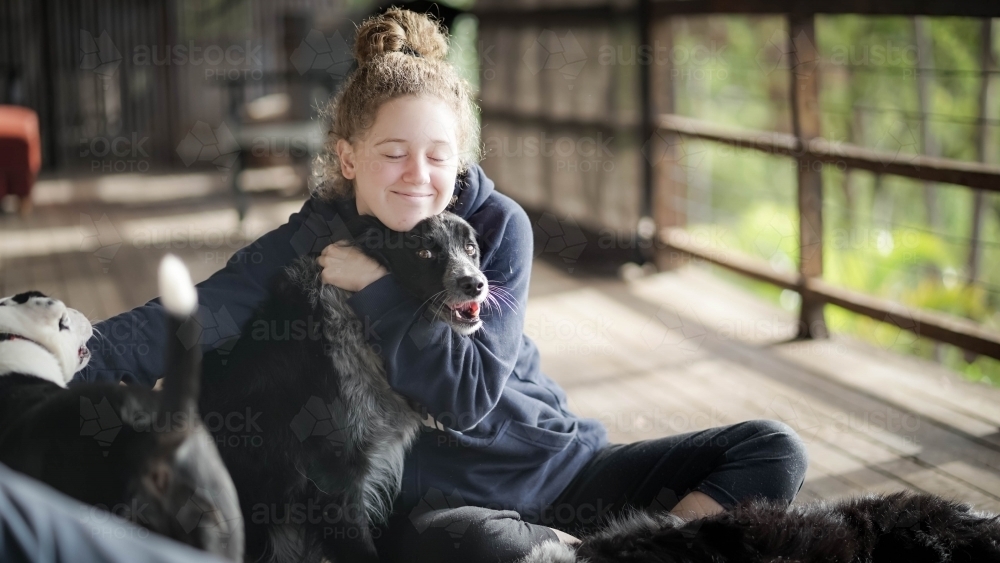
[[[358,218],[355,243],[377,260],[410,294],[451,328],[469,335],[482,326],[480,305],[489,295],[479,271],[476,231],[453,213],[424,219],[410,231],[390,230],[370,215]]]

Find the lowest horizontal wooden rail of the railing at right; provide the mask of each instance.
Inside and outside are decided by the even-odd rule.
[[[917,336],[1000,359],[1000,333],[969,319],[907,307],[894,301],[837,287],[820,279],[803,278],[793,272],[775,272],[771,265],[763,260],[698,244],[691,234],[683,229],[665,229],[660,233],[660,240],[670,251],[717,264],[783,289],[797,291],[803,295],[803,300],[806,296],[822,300],[829,305],[836,305],[877,321],[892,324]]]

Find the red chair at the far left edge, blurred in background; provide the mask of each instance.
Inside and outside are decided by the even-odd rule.
[[[31,210],[31,186],[42,168],[38,114],[22,106],[0,105],[0,198],[15,195],[21,214]]]

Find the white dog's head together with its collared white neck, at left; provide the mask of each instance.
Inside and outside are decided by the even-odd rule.
[[[65,386],[90,361],[94,329],[83,313],[38,291],[0,299],[0,375],[24,373]]]

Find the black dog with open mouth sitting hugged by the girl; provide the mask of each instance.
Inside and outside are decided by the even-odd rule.
[[[358,248],[429,303],[428,315],[463,335],[480,328],[489,285],[468,223],[443,213],[406,233],[368,216],[347,227]],[[254,445],[240,429],[216,432],[220,443],[242,444],[221,451],[247,523],[247,561],[377,561],[369,526],[391,511],[422,422],[419,407],[389,386],[347,304],[351,293],[321,274],[314,256],[300,258],[224,365],[206,356],[202,410],[248,412],[263,434]]]

